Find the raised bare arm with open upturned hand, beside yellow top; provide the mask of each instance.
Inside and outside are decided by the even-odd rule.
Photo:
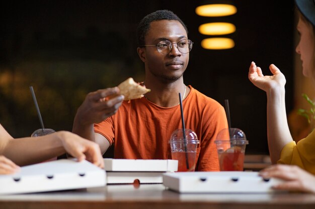
[[[281,150],[291,142],[285,110],[285,77],[275,65],[269,67],[272,76],[264,76],[260,67],[252,62],[250,81],[267,94],[267,137],[272,163],[280,159]]]

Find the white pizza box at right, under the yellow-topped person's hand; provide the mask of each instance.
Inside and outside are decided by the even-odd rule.
[[[177,172],[164,173],[163,184],[180,193],[269,193],[271,187],[282,182],[264,179],[258,172]]]

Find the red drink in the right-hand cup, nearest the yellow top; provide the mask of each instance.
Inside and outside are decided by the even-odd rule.
[[[243,171],[245,153],[238,146],[225,150],[219,156],[221,171]]]

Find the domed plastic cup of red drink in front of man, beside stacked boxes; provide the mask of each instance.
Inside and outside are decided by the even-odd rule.
[[[196,150],[199,140],[197,134],[185,129],[185,138],[183,137],[183,129],[175,130],[170,138],[172,159],[178,160],[179,172],[195,171],[196,166]]]

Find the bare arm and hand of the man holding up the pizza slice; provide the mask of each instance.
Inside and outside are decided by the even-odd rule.
[[[89,93],[76,112],[72,132],[98,143],[104,153],[110,145],[104,136],[94,132],[94,123],[100,123],[115,114],[123,99],[118,87]]]

